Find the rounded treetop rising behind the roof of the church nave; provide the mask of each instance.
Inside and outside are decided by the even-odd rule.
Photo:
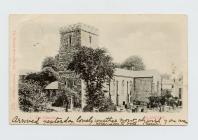
[[[139,56],[131,56],[131,57],[127,58],[121,64],[120,67],[127,69],[127,70],[134,70],[134,71],[145,70],[145,65],[143,63],[143,60]]]

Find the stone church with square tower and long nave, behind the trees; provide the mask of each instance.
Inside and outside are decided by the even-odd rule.
[[[46,90],[71,92],[81,96],[81,107],[85,106],[85,85],[67,66],[80,46],[97,48],[99,32],[95,27],[82,23],[69,25],[60,29],[59,81],[49,85]],[[106,96],[116,106],[133,104],[134,100],[148,102],[149,96],[161,95],[161,76],[155,70],[133,71],[116,68],[113,79],[104,85]],[[70,98],[73,107],[75,96]]]

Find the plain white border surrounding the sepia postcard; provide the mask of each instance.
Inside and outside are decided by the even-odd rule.
[[[5,0],[0,1],[0,139],[191,139],[198,130],[198,3],[193,0]],[[68,127],[8,125],[8,14],[11,13],[179,13],[188,15],[189,125],[186,127]]]

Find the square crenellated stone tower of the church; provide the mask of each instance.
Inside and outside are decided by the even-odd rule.
[[[60,29],[59,90],[73,90],[76,86],[81,85],[78,75],[67,70],[73,55],[81,46],[98,47],[98,30],[96,28],[78,23]]]

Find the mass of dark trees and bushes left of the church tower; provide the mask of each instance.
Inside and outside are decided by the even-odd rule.
[[[46,108],[47,96],[43,93],[46,85],[59,79],[57,72],[58,55],[47,57],[40,72],[29,73],[19,80],[19,106],[22,111],[50,111]]]

